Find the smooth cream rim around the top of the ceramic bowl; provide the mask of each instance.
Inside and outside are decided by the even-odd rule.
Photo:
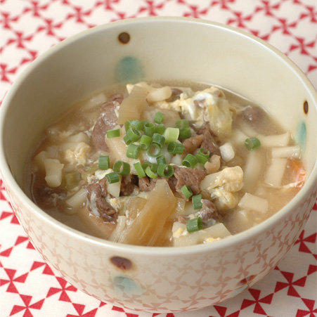
[[[240,245],[247,239],[255,237],[256,235],[260,235],[266,231],[269,231],[270,228],[274,226],[274,224],[282,221],[288,214],[290,214],[291,209],[295,208],[296,205],[299,204],[301,197],[305,196],[309,190],[311,190],[314,186],[316,186],[317,181],[317,161],[311,169],[311,174],[309,175],[306,183],[303,188],[295,195],[295,198],[282,209],[280,209],[276,214],[273,214],[268,219],[262,221],[260,224],[253,226],[241,233],[236,233],[234,235],[228,236],[221,240],[218,240],[213,243],[200,244],[200,245],[191,245],[186,247],[145,247],[138,245],[126,245],[120,244],[117,242],[111,242],[109,240],[104,240],[102,238],[96,238],[93,235],[89,235],[86,233],[82,233],[81,231],[77,231],[77,229],[70,228],[69,226],[61,223],[60,221],[54,219],[52,216],[44,212],[41,208],[37,207],[34,202],[27,196],[27,194],[18,186],[18,183],[15,181],[13,174],[11,174],[10,167],[8,166],[8,162],[6,160],[6,156],[4,154],[4,134],[5,131],[4,121],[6,118],[6,113],[8,112],[9,105],[15,92],[18,91],[20,85],[24,82],[27,76],[32,72],[32,70],[41,63],[44,62],[48,56],[51,56],[56,51],[60,50],[64,46],[72,44],[72,42],[77,41],[77,39],[82,39],[83,37],[89,36],[89,34],[93,34],[95,32],[100,32],[103,30],[107,30],[112,27],[117,27],[118,25],[129,25],[136,23],[151,23],[151,22],[173,22],[173,23],[193,23],[195,25],[204,25],[214,28],[219,28],[221,30],[226,30],[228,32],[233,32],[238,36],[247,37],[251,41],[255,41],[258,45],[264,46],[266,49],[269,49],[271,53],[276,55],[276,58],[281,58],[288,65],[288,67],[292,68],[293,72],[296,72],[297,77],[302,80],[303,84],[307,87],[307,91],[311,93],[313,96],[313,100],[316,101],[315,108],[317,112],[317,91],[309,81],[309,79],[304,75],[304,72],[299,69],[297,65],[295,65],[290,58],[287,58],[282,52],[280,52],[277,48],[267,43],[263,39],[254,36],[244,30],[240,30],[236,27],[231,27],[228,25],[221,24],[219,22],[213,22],[211,20],[197,19],[197,18],[183,18],[183,17],[174,17],[174,16],[155,16],[155,17],[145,17],[145,18],[129,18],[125,20],[117,20],[114,22],[108,22],[104,25],[98,25],[96,27],[92,27],[88,30],[84,30],[79,32],[78,34],[72,35],[67,39],[61,41],[55,46],[49,48],[47,51],[42,53],[36,60],[34,60],[30,65],[26,67],[25,70],[18,75],[18,78],[15,79],[11,88],[6,93],[4,97],[3,103],[0,107],[0,173],[2,179],[4,181],[5,187],[10,187],[16,195],[18,195],[19,199],[23,202],[23,205],[32,211],[32,213],[37,214],[37,216],[41,219],[41,221],[45,221],[47,225],[54,228],[54,230],[62,231],[63,234],[72,236],[77,240],[84,240],[86,242],[90,242],[92,245],[98,245],[99,247],[105,247],[109,250],[115,252],[122,252],[125,254],[146,254],[150,256],[160,256],[160,257],[169,257],[170,255],[192,255],[192,254],[200,254],[205,252],[214,252],[216,250],[224,249],[227,247],[232,247],[233,245]],[[317,188],[316,188],[317,189]],[[35,246],[36,247],[36,246]]]

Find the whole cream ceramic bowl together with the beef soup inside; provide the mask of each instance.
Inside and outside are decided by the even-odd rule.
[[[313,86],[264,41],[124,20],[56,45],[13,84],[1,172],[68,282],[188,311],[254,285],[294,244],[316,200],[316,121]]]

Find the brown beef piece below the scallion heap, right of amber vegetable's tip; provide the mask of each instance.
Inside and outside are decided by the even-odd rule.
[[[177,167],[174,166],[174,176],[177,180],[176,183],[176,192],[180,193],[183,197],[183,193],[181,193],[181,188],[184,185],[190,187],[193,192],[193,195],[198,195],[200,193],[199,184],[202,179],[205,179],[207,173],[202,169],[191,169],[190,167]]]

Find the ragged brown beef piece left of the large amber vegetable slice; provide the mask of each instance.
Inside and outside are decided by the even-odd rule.
[[[97,183],[91,183],[86,186],[87,198],[90,203],[89,207],[91,209],[96,208],[103,220],[107,222],[115,222],[117,221],[117,213],[105,199],[107,197],[107,188],[105,183],[106,180],[103,178]]]

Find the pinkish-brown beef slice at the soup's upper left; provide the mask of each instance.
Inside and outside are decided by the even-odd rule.
[[[115,107],[122,103],[123,98],[122,94],[112,95],[110,101],[102,105],[101,114],[97,119],[95,127],[93,127],[92,133],[92,141],[96,150],[109,151],[108,146],[105,144],[105,134],[117,125],[118,118],[115,114]]]

